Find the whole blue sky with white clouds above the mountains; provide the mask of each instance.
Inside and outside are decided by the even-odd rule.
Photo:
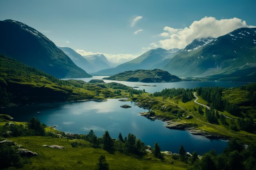
[[[0,0],[0,20],[23,22],[57,46],[123,63],[158,47],[256,26],[256,0]]]

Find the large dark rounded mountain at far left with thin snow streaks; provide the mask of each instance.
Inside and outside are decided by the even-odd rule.
[[[45,35],[18,21],[0,21],[0,53],[58,78],[91,77]]]

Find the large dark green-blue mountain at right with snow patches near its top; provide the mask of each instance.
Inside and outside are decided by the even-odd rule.
[[[197,49],[189,46],[164,70],[180,77],[256,82],[256,28],[236,29]]]

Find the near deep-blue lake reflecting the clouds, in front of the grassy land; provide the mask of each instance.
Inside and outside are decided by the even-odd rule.
[[[127,104],[131,108],[121,108]],[[88,134],[92,129],[98,137],[108,130],[111,137],[117,138],[119,132],[123,137],[128,133],[136,135],[146,145],[153,146],[157,142],[162,150],[178,152],[182,144],[186,151],[203,154],[211,149],[218,153],[227,146],[226,141],[207,139],[191,135],[184,130],[172,130],[164,126],[163,121],[152,121],[139,115],[148,111],[134,105],[134,102],[120,102],[108,99],[105,102],[62,102],[51,104],[31,104],[12,108],[1,108],[2,114],[9,114],[14,121],[27,121],[31,117],[40,119],[48,126],[56,125],[56,129],[79,134]]]

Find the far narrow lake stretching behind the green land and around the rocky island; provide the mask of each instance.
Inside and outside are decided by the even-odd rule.
[[[89,82],[91,79],[102,79],[103,77],[109,76],[93,76],[91,78],[78,78],[79,80],[83,80],[85,82]],[[165,88],[196,88],[196,87],[239,87],[248,83],[244,82],[170,82],[170,83],[141,83],[141,82],[123,82],[123,81],[115,81],[115,80],[106,80],[103,79],[104,82],[117,82],[124,84],[126,86],[131,87],[139,87],[135,88],[137,90],[145,89],[148,93],[154,93],[162,91]],[[148,86],[138,86],[138,85],[148,85]]]

